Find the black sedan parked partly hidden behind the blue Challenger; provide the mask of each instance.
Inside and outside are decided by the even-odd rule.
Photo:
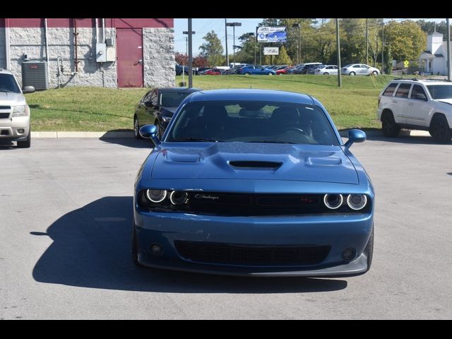
[[[198,88],[155,88],[146,93],[136,104],[133,114],[133,135],[140,139],[140,127],[155,124],[157,135],[162,136],[179,104]]]

